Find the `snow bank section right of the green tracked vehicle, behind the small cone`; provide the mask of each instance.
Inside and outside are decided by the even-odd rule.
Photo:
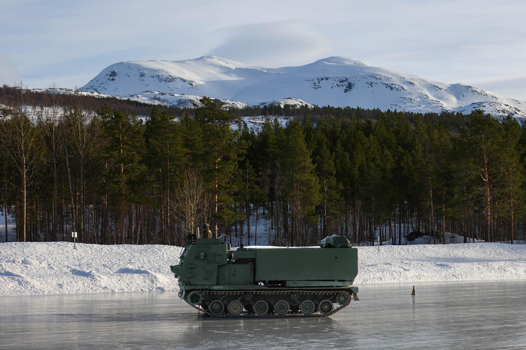
[[[358,247],[356,284],[526,279],[526,245]]]

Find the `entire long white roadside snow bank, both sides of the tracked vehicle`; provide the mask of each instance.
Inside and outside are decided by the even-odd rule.
[[[526,279],[526,246],[359,247],[356,284]],[[177,290],[180,247],[0,243],[0,295]]]

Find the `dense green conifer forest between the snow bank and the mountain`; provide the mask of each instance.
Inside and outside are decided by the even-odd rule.
[[[7,86],[0,104],[2,214],[17,241],[77,231],[181,246],[208,222],[213,237],[257,245],[254,219],[279,246],[525,239],[526,132],[511,116],[209,98],[180,109]],[[267,118],[249,129],[241,117],[256,115]]]

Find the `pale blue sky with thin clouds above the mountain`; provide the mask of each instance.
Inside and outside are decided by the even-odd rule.
[[[81,87],[129,60],[330,56],[526,101],[521,1],[0,0],[0,84]]]

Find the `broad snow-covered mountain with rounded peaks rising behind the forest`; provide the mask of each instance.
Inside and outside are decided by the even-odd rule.
[[[255,67],[215,56],[184,61],[127,61],[105,68],[81,90],[145,101],[155,98],[168,104],[209,96],[239,107],[289,101],[295,105],[414,112],[470,113],[482,109],[497,117],[511,114],[526,119],[526,102],[345,57],[281,68]]]

